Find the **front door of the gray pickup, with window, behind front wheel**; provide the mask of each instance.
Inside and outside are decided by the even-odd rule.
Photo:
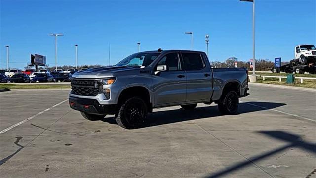
[[[153,75],[153,92],[155,106],[182,103],[186,99],[186,73],[182,70],[179,53],[164,55],[155,66],[165,66],[164,71]]]

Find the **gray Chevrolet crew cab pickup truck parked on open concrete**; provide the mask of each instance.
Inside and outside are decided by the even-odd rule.
[[[212,68],[199,51],[161,50],[132,54],[112,67],[73,74],[70,107],[88,120],[115,114],[119,126],[140,127],[153,108],[197,103],[218,104],[235,114],[239,97],[247,96],[246,68]]]

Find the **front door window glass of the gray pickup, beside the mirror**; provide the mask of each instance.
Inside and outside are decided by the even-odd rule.
[[[179,71],[181,70],[181,64],[178,53],[170,53],[165,55],[159,62],[158,65],[166,65],[167,71]]]

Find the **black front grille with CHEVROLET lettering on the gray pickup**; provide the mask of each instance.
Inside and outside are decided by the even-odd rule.
[[[95,80],[77,80],[71,81],[71,93],[81,96],[96,96],[100,93],[99,83]]]

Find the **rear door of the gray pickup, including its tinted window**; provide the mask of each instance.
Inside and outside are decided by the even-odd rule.
[[[186,101],[209,101],[213,92],[212,71],[206,56],[195,52],[182,52],[187,74]]]

